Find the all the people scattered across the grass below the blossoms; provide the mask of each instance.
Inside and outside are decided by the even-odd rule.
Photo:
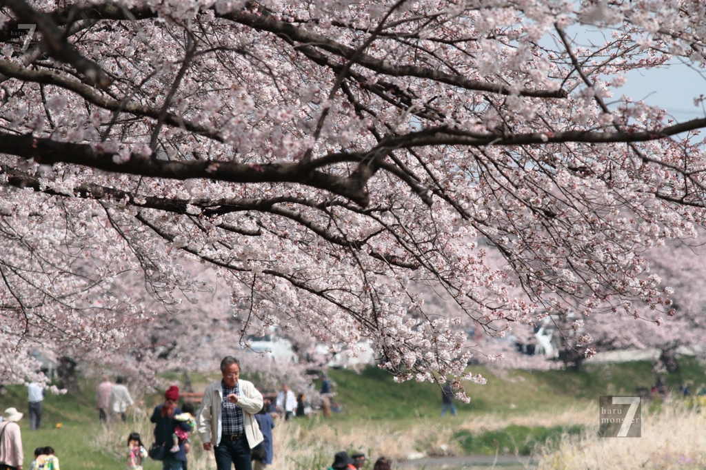
[[[240,363],[232,357],[223,358],[222,378],[203,392],[198,411],[191,402],[181,407],[179,387],[172,385],[164,392],[164,402],[155,406],[150,421],[155,425],[150,447],[145,447],[138,433],[127,438],[126,469],[142,470],[143,462],[151,459],[162,462],[163,470],[188,470],[186,455],[191,452],[190,434],[196,431],[203,450],[213,452],[217,470],[263,470],[273,462],[273,429],[275,418],[289,421],[294,417],[310,418],[313,406],[306,393],[295,394],[283,384],[279,392],[263,394],[248,380],[240,378]],[[126,422],[126,412],[133,406],[133,398],[125,380],[117,377],[115,383],[104,376],[96,387],[95,399],[98,418],[102,423]],[[311,393],[313,388],[309,388]],[[340,411],[340,405],[331,401],[332,382],[321,375],[321,400],[318,406],[323,416]],[[193,394],[189,398],[194,398]],[[318,397],[317,397],[318,398]],[[32,382],[28,385],[30,428],[38,429],[42,421],[44,387]],[[442,389],[441,416],[446,411],[456,415],[453,390],[447,383]],[[22,470],[23,450],[17,421],[23,414],[8,408],[0,423],[0,470]],[[355,470],[366,466],[365,454],[347,452],[335,454],[328,470]],[[39,447],[30,470],[59,470],[59,458],[52,447]],[[377,459],[373,470],[390,470],[385,457]]]

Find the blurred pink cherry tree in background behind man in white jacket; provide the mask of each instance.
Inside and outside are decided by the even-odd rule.
[[[141,312],[139,317],[131,317],[123,335],[109,347],[89,349],[66,341],[33,342],[32,346],[45,356],[71,358],[87,376],[100,378],[110,373],[127,377],[138,393],[166,385],[169,380],[160,375],[167,371],[216,373],[227,355],[238,356],[244,373],[256,375],[263,387],[275,389],[287,382],[304,390],[307,369],[321,363],[276,359],[267,351],[251,351],[244,325],[234,317],[241,306],[232,305],[230,289],[220,284],[213,269],[183,258],[178,264],[183,270],[180,277],[190,282],[145,282],[143,276],[129,272],[104,287],[114,296],[122,294]],[[308,351],[306,343],[298,342],[299,337],[291,335],[289,339],[302,353]]]

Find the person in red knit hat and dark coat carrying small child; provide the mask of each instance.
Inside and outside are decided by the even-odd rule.
[[[150,421],[155,423],[155,443],[164,447],[164,460],[162,470],[184,470],[186,468],[186,452],[184,452],[184,442],[179,442],[178,452],[169,452],[172,447],[172,435],[179,426],[185,431],[191,430],[191,426],[186,421],[177,421],[174,416],[181,414],[181,409],[177,407],[179,401],[179,387],[172,385],[164,392],[164,403],[155,407]]]

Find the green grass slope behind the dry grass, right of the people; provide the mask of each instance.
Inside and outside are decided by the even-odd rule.
[[[706,382],[704,367],[689,357],[680,358],[679,363],[678,373],[662,374],[667,386],[678,393],[678,385],[690,381],[695,392],[698,385]],[[511,370],[508,380],[495,377],[483,367],[471,370],[488,378],[488,383],[467,384],[471,402],[456,402],[460,415],[551,413],[591,406],[598,403],[601,395],[635,394],[638,387],[650,388],[657,380],[652,363],[647,361],[590,365],[578,371]],[[441,390],[436,384],[414,380],[397,384],[388,373],[374,367],[365,368],[360,374],[330,370],[329,375],[336,384],[334,401],[343,407],[341,414],[334,414],[336,420],[436,418],[441,412]]]

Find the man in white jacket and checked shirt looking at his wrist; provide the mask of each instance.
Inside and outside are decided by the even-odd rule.
[[[254,414],[263,407],[263,396],[247,380],[240,380],[240,363],[233,356],[221,361],[223,379],[203,392],[196,429],[203,450],[216,459],[218,470],[252,470],[251,448],[263,441]]]

